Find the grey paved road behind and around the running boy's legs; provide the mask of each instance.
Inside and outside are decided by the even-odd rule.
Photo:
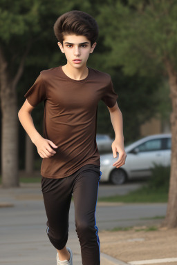
[[[126,187],[124,186],[126,189]],[[130,187],[127,185],[127,189]],[[132,188],[132,187],[131,187]],[[99,196],[122,192],[120,187],[106,187],[100,184]],[[121,191],[120,191],[121,190]],[[114,193],[114,194],[116,194]],[[46,235],[46,214],[39,185],[24,185],[23,188],[1,189],[0,205],[13,204],[13,207],[0,208],[0,264],[56,264],[55,248]],[[150,224],[143,217],[162,216],[166,213],[166,204],[119,204],[106,206],[97,203],[96,220],[99,230],[116,226]],[[73,249],[74,265],[81,265],[80,244],[75,232],[74,205],[71,202],[70,226],[67,246]],[[153,220],[154,222],[154,220]],[[102,256],[101,256],[102,257]],[[108,265],[102,257],[102,265]]]

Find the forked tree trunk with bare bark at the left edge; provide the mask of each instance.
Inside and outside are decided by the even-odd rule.
[[[2,186],[19,186],[19,160],[18,160],[18,122],[17,113],[17,93],[16,88],[24,71],[24,62],[31,46],[28,41],[26,50],[21,56],[19,67],[14,77],[10,73],[10,62],[7,61],[3,46],[0,46],[0,98],[2,115],[2,148],[1,148],[1,167],[2,167]],[[12,66],[11,66],[12,67]]]

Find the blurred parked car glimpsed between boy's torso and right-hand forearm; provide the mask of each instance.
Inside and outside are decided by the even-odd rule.
[[[102,135],[97,133],[96,135],[96,141],[97,141],[97,149],[99,150],[99,153],[106,153],[111,152],[112,150],[112,143],[113,139],[109,137],[109,135]]]

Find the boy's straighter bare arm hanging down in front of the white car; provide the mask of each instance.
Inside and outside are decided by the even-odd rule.
[[[116,102],[113,108],[109,108],[110,116],[111,116],[111,123],[113,125],[113,129],[115,132],[115,140],[112,144],[113,150],[113,157],[117,157],[117,152],[119,153],[119,158],[113,166],[119,168],[120,166],[125,164],[125,159],[127,157],[127,153],[124,150],[124,135],[123,135],[123,119],[122,119],[122,112],[118,107],[118,103]]]

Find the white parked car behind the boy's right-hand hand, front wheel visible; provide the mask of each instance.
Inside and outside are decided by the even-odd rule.
[[[118,160],[113,153],[100,155],[100,181],[110,181],[112,184],[124,184],[128,179],[149,177],[153,163],[170,166],[171,164],[171,133],[150,135],[125,146],[127,158],[120,168],[113,166]]]

